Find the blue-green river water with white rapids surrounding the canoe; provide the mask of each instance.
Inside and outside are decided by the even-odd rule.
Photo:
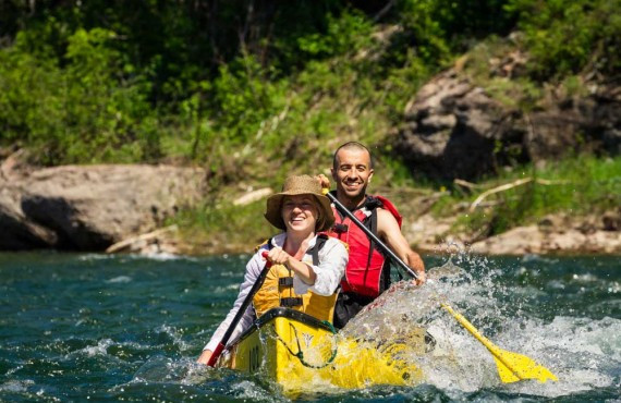
[[[288,401],[260,376],[194,363],[247,258],[0,254],[0,401]],[[437,342],[418,363],[425,380],[296,399],[619,402],[621,259],[455,254],[425,262],[436,267],[428,285],[395,289],[345,329],[390,339],[425,326]],[[438,301],[559,381],[501,383],[490,354]]]

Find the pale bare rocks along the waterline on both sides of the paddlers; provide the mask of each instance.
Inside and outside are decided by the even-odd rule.
[[[11,169],[0,176],[0,249],[132,252],[143,254],[245,253],[215,242],[193,245],[166,219],[205,196],[205,173],[167,166],[65,166]],[[260,198],[267,197],[261,191]],[[270,191],[271,192],[271,191]],[[251,202],[255,197],[249,198]],[[241,198],[243,199],[243,197]],[[411,204],[427,203],[427,198]],[[244,202],[249,203],[249,202]],[[421,206],[407,206],[418,210]],[[621,255],[621,208],[602,215],[552,215],[536,224],[474,239],[454,233],[452,217],[405,213],[403,233],[423,253],[456,246],[486,255]],[[238,251],[238,248],[240,251]]]

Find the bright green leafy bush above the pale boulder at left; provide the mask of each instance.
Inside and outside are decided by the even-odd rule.
[[[76,30],[64,66],[31,52],[19,35],[0,51],[0,126],[4,139],[35,147],[40,162],[155,160],[157,122],[148,84],[108,46],[114,34]]]

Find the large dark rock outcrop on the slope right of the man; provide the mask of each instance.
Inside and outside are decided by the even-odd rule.
[[[546,88],[536,108],[526,111],[500,102],[451,69],[407,103],[393,149],[412,171],[443,180],[476,180],[499,167],[574,151],[618,155],[621,87],[584,87],[588,94],[571,95],[562,85]]]

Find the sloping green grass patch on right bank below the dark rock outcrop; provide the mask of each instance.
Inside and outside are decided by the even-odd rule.
[[[465,208],[453,230],[490,236],[536,223],[550,213],[581,217],[601,213],[621,205],[621,157],[600,159],[583,155],[547,162],[543,167],[528,164],[513,169],[480,181],[480,187],[474,192],[455,185],[451,195],[438,203],[433,212],[450,215],[455,211],[455,206],[471,206],[487,190],[526,178],[533,181],[485,198],[484,202],[492,206],[476,208],[474,212]]]

